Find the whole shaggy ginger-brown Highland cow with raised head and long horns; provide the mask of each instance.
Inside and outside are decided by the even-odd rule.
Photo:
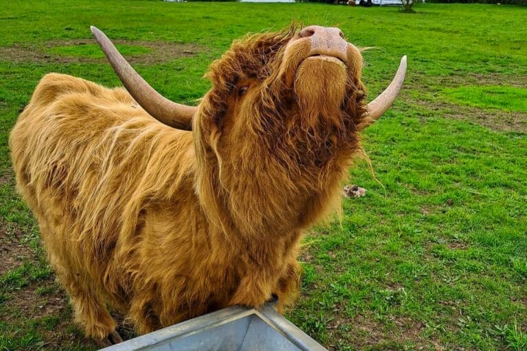
[[[108,345],[120,337],[106,304],[140,333],[272,293],[282,308],[301,233],[339,208],[359,132],[393,104],[406,59],[366,105],[360,50],[339,29],[257,34],[211,64],[189,107],[92,31],[128,91],[46,75],[10,136],[75,319]]]

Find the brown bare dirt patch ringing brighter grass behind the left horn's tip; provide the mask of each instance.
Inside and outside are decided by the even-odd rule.
[[[158,64],[169,62],[175,58],[194,56],[204,49],[196,44],[180,44],[165,41],[145,41],[145,40],[113,40],[115,44],[126,44],[141,46],[151,49],[150,53],[141,53],[126,56],[126,60],[131,64]],[[106,62],[106,58],[89,58],[82,56],[66,56],[50,53],[53,47],[78,46],[95,44],[93,39],[75,40],[51,40],[43,46],[27,47],[15,45],[12,47],[0,47],[0,60],[10,62],[41,62],[45,64],[56,63],[93,63]]]

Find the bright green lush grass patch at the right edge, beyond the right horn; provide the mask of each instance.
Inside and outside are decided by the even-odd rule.
[[[446,88],[450,99],[469,106],[527,112],[527,88],[513,86],[460,86]]]

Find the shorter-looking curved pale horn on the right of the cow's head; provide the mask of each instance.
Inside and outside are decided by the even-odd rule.
[[[363,130],[368,127],[368,125],[373,124],[379,117],[381,117],[390,106],[393,105],[395,98],[399,95],[399,90],[403,86],[404,77],[406,75],[406,55],[401,58],[401,64],[399,64],[399,69],[395,73],[395,77],[392,82],[386,88],[381,95],[376,97],[371,103],[368,104],[368,114],[364,121],[358,125],[359,130]]]

